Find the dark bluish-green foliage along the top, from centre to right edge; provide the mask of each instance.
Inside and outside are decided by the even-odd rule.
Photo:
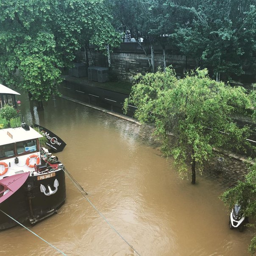
[[[241,75],[255,69],[255,0],[111,0],[119,20],[116,27],[130,30],[153,71],[149,50],[158,42],[175,54],[194,58],[197,67],[220,74]],[[139,38],[144,39],[143,43]],[[151,55],[151,56],[150,56]],[[151,61],[150,61],[151,58]],[[164,63],[165,67],[165,63]]]

